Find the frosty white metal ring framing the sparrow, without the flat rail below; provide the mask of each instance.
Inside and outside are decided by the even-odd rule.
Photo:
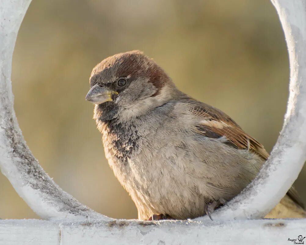
[[[293,184],[306,159],[306,81],[303,80],[306,78],[306,0],[271,1],[284,29],[290,58],[290,95],[283,129],[271,157],[256,180],[230,201],[229,206],[218,209],[214,213],[215,220],[256,219],[265,216]],[[116,223],[116,220],[111,221],[80,204],[56,185],[28,149],[18,126],[13,109],[11,63],[17,32],[30,2],[0,1],[1,171],[17,193],[44,219],[90,219]],[[203,224],[199,220],[207,220],[207,217],[193,222]],[[102,228],[106,229],[103,226],[106,223],[103,222]],[[136,224],[135,221],[126,222]],[[163,223],[168,225],[167,222]]]

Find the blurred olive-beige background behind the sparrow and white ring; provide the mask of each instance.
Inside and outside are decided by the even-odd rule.
[[[33,0],[13,57],[15,110],[33,154],[65,191],[107,216],[136,218],[104,157],[93,105],[84,99],[96,63],[133,49],[271,151],[289,69],[269,0]],[[296,186],[306,202],[305,176],[304,168]],[[3,175],[0,185],[0,217],[38,217]]]

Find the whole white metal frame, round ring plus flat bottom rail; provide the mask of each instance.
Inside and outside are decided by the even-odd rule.
[[[271,157],[229,206],[214,213],[214,222],[206,216],[140,222],[114,220],[82,205],[54,183],[28,149],[13,109],[11,64],[31,0],[1,0],[0,168],[45,221],[0,220],[0,244],[291,244],[288,239],[306,236],[306,220],[261,219],[285,195],[306,160],[306,0],[271,1],[290,60],[288,108]]]

